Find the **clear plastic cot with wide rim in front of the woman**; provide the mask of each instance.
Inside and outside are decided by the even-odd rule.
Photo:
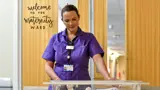
[[[44,84],[51,84],[56,86],[56,90],[58,87],[66,85],[69,86],[68,90],[74,90],[72,87],[79,85],[91,85],[90,89],[86,90],[141,90],[142,85],[148,85],[149,83],[142,81],[123,81],[123,80],[101,80],[101,81],[90,81],[90,80],[69,80],[69,81],[50,81],[44,82]],[[116,86],[116,88],[114,88]],[[125,88],[125,89],[124,89]]]

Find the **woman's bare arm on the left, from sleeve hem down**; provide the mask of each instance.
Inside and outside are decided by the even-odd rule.
[[[52,79],[52,80],[60,80],[60,78],[56,75],[56,73],[53,70],[54,67],[54,62],[52,61],[47,61],[46,60],[46,64],[45,64],[45,71],[48,74],[48,76]]]

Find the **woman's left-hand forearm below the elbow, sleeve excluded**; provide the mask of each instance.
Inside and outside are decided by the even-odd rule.
[[[53,68],[49,65],[45,65],[45,71],[47,75],[52,79],[52,80],[59,80],[59,77],[57,74],[54,72]]]

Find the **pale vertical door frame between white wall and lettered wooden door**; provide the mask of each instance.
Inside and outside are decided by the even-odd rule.
[[[13,90],[22,90],[22,0],[13,3]]]

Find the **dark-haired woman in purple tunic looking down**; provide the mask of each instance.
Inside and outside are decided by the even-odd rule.
[[[102,58],[104,51],[93,34],[83,32],[79,27],[77,8],[66,5],[61,16],[66,29],[53,35],[42,56],[46,60],[46,73],[52,80],[90,80],[88,62],[92,57],[104,79],[110,79]],[[85,90],[82,88],[86,87],[81,86],[81,89],[75,90]],[[61,90],[67,89],[63,87]]]

